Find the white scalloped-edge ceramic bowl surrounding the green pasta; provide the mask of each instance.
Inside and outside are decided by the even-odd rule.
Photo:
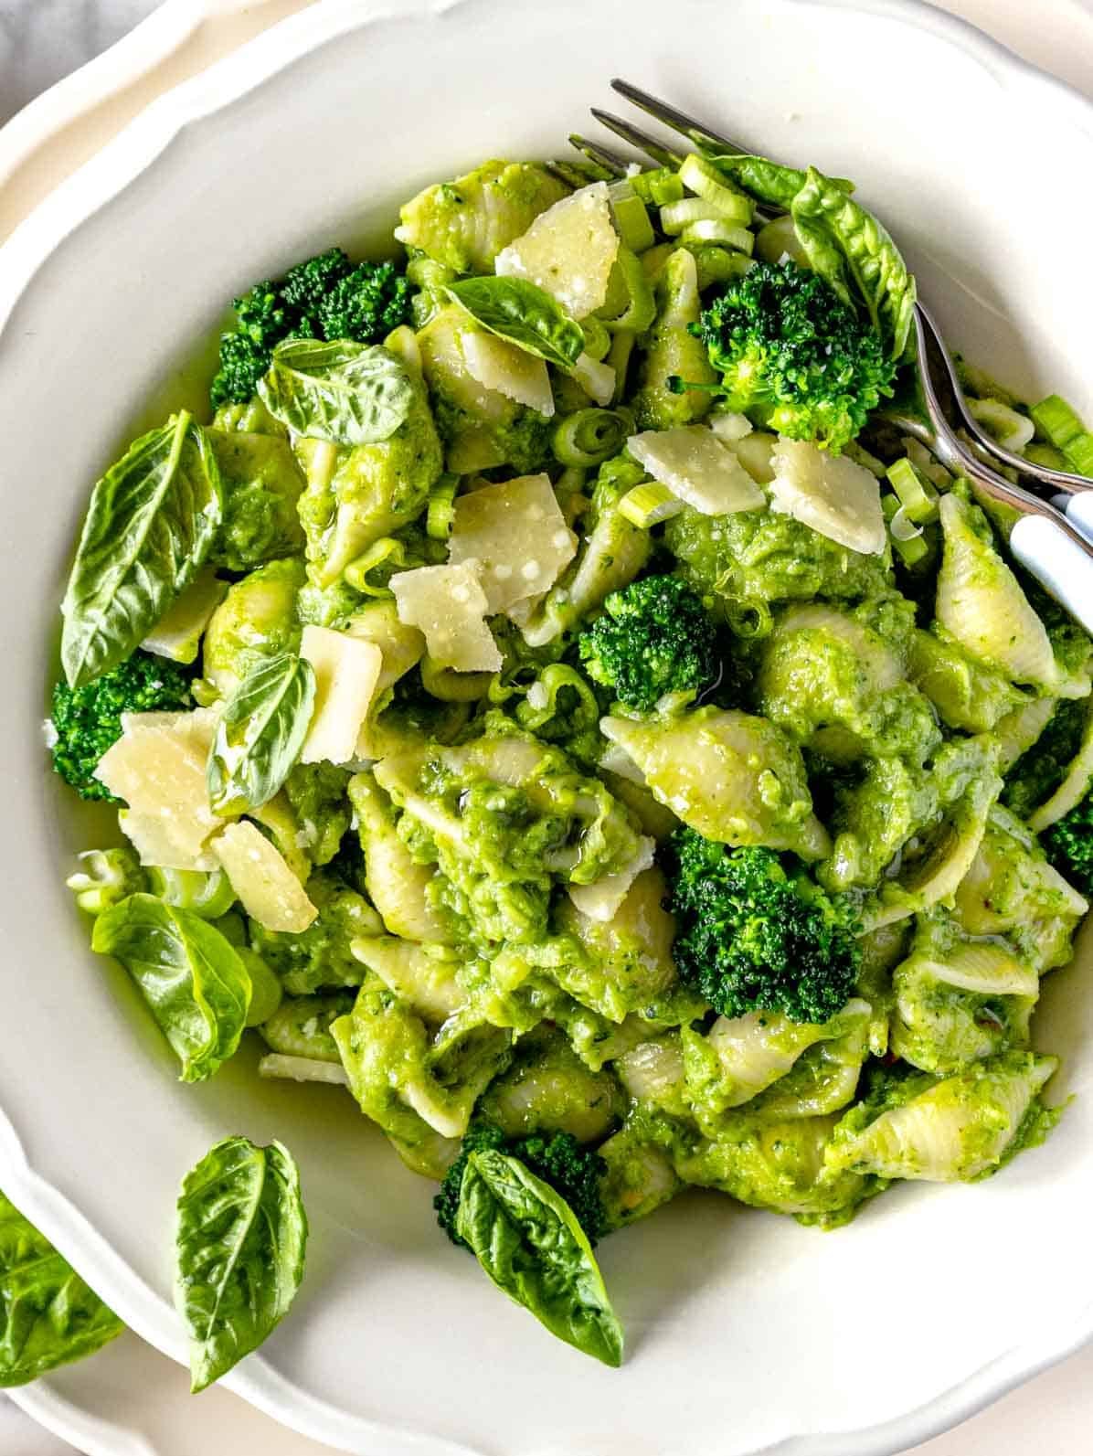
[[[956,345],[1093,409],[1090,109],[926,6],[326,0],[157,102],[0,253],[0,1185],[182,1358],[179,1176],[224,1133],[282,1137],[303,1166],[309,1275],[227,1383],[346,1450],[879,1456],[1093,1334],[1093,945],[1036,1018],[1083,1093],[1044,1150],[978,1187],[907,1185],[832,1235],[678,1200],[603,1246],[629,1335],[610,1372],[440,1236],[429,1187],[343,1093],[259,1085],[249,1051],[180,1086],[63,888],[93,815],[45,772],[38,725],[90,482],[153,400],[192,387],[179,361],[234,291],[378,237],[402,198],[485,156],[562,150],[614,73],[854,176]]]

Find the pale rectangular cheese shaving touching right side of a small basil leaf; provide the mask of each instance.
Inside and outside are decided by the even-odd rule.
[[[349,763],[368,716],[383,668],[383,652],[374,642],[306,626],[300,657],[314,668],[314,712],[300,751],[301,763]]]

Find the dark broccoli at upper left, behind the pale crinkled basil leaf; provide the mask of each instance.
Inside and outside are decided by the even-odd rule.
[[[282,339],[378,344],[410,317],[410,285],[393,264],[351,264],[341,248],[265,280],[233,303],[236,328],[220,336],[212,406],[246,403]]]

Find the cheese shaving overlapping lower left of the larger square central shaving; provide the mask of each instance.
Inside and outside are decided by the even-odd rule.
[[[399,620],[421,628],[429,657],[457,673],[496,673],[501,652],[486,626],[489,601],[474,559],[418,566],[390,579]]]

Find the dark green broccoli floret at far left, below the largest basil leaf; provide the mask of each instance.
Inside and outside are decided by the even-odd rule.
[[[178,662],[140,648],[84,687],[54,683],[51,740],[54,770],[82,799],[118,802],[95,770],[111,744],[121,738],[122,713],[175,712],[192,708],[191,673]]]

